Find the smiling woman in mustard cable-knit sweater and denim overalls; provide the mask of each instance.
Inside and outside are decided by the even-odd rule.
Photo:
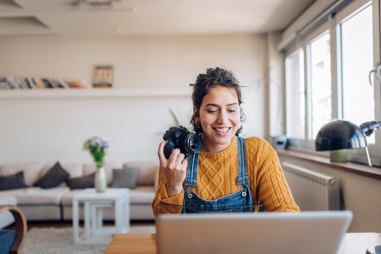
[[[271,145],[259,137],[236,137],[245,115],[234,74],[207,69],[197,77],[192,100],[191,123],[202,134],[203,147],[188,160],[175,149],[167,160],[164,141],[160,143],[155,216],[158,203],[214,207],[263,202],[266,211],[299,212]]]

